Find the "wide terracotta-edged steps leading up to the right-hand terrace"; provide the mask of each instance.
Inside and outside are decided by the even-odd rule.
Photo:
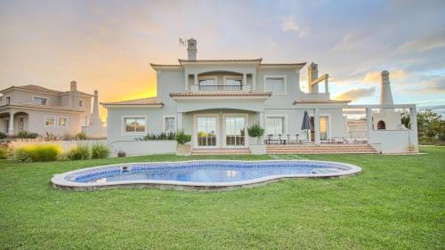
[[[376,154],[368,144],[268,145],[268,155],[285,154]]]

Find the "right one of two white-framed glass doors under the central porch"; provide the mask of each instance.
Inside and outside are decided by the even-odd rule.
[[[227,147],[246,146],[246,118],[225,118],[225,144]]]

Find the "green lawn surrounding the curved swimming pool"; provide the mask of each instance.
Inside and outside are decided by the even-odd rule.
[[[2,160],[0,248],[444,249],[445,148],[422,151],[427,154],[300,156],[360,165],[363,172],[223,192],[50,186],[53,173],[86,166],[195,157]]]

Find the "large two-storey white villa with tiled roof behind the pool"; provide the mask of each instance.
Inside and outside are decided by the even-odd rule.
[[[261,153],[258,142],[273,144],[273,149],[366,144],[382,153],[417,151],[416,106],[392,103],[387,71],[382,72],[380,104],[351,105],[331,100],[328,74],[319,75],[317,64],[264,63],[261,58],[198,60],[197,41],[191,38],[187,44],[187,60],[151,64],[157,72],[156,97],[101,103],[108,109],[110,144],[184,130],[192,135],[196,151]],[[300,86],[305,66],[308,93]],[[409,128],[401,125],[402,109],[413,117]],[[310,133],[302,130],[304,111],[312,120]],[[351,117],[359,118],[353,122]],[[247,134],[247,127],[255,123],[266,131],[260,141]],[[152,148],[144,152],[158,152]]]

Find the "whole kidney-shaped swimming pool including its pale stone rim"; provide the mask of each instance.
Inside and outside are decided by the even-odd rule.
[[[116,187],[224,190],[282,178],[338,177],[359,166],[311,160],[195,160],[104,165],[54,175],[55,188],[97,190]]]

